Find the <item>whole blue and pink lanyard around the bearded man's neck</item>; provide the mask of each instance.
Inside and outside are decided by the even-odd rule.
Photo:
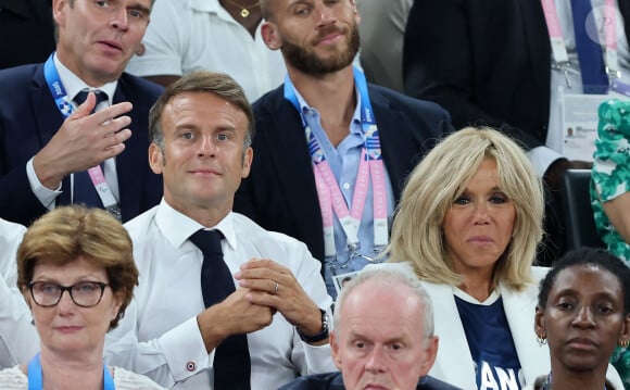
[[[385,166],[380,151],[380,138],[378,127],[374,118],[371,103],[367,92],[367,81],[365,75],[358,68],[354,67],[354,83],[361,96],[361,126],[364,133],[365,142],[361,153],[358,173],[354,186],[354,196],[352,198],[352,207],[349,210],[343,199],[332,169],[326,160],[326,155],[315,138],[313,130],[306,123],[304,114],[300,108],[300,102],[295,96],[293,84],[287,76],[285,79],[285,99],[290,101],[302,118],[313,173],[315,175],[315,187],[319,207],[322,209],[322,219],[324,223],[324,248],[326,256],[337,254],[335,248],[335,227],[332,213],[337,215],[341,228],[343,229],[348,249],[352,256],[357,256],[360,249],[358,228],[363,217],[365,200],[367,198],[369,180],[373,187],[373,210],[374,210],[374,246],[375,248],[385,247],[388,243],[388,221],[387,221],[387,187],[385,183]]]

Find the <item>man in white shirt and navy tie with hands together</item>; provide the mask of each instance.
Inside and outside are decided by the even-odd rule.
[[[227,75],[191,73],[150,114],[149,161],[164,199],[126,227],[140,271],[135,301],[105,347],[109,363],[174,389],[214,386],[216,348],[247,335],[251,389],[335,369],[328,345],[331,299],[306,247],[231,212],[252,163],[253,119]],[[205,309],[203,254],[189,238],[219,230],[236,291]],[[219,373],[220,374],[220,373]]]

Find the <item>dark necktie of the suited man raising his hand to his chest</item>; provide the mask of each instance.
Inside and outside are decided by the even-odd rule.
[[[74,102],[77,105],[83,104],[86,99],[88,98],[88,90],[81,90],[76,95],[74,98]],[[97,98],[97,103],[94,104],[94,110],[97,105],[99,105],[103,101],[108,101],[108,95],[101,90],[93,90],[94,96]],[[90,114],[93,114],[94,110]],[[60,194],[56,199],[58,204],[71,204],[71,203],[83,203],[90,207],[102,207],[103,202],[99,197],[97,189],[90,178],[90,175],[87,171],[75,172],[74,173],[74,197],[71,198],[70,196],[70,180],[64,180],[63,184],[64,191]],[[68,190],[65,190],[68,189]]]

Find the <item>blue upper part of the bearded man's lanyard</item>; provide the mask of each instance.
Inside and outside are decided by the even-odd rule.
[[[361,126],[365,134],[365,149],[367,151],[367,160],[381,160],[382,154],[380,152],[380,138],[378,136],[378,128],[376,125],[376,119],[374,117],[374,111],[371,109],[371,102],[369,101],[369,93],[367,92],[367,81],[365,79],[365,74],[358,70],[356,66],[353,67],[354,73],[354,84],[361,96]],[[306,128],[306,141],[308,142],[308,150],[311,155],[318,155],[319,159],[324,159],[324,152],[319,147],[319,142],[315,139],[313,131],[307,129],[306,119],[304,118],[304,113],[300,108],[300,102],[295,96],[295,88],[293,83],[287,75],[285,77],[285,99],[287,99],[300,113],[302,118],[302,126]]]

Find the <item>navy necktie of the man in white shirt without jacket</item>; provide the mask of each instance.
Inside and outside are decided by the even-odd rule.
[[[236,291],[231,273],[223,260],[218,230],[200,229],[190,241],[203,252],[201,292],[205,307],[210,307]],[[214,389],[250,389],[251,361],[247,335],[232,335],[216,347],[214,353]]]

